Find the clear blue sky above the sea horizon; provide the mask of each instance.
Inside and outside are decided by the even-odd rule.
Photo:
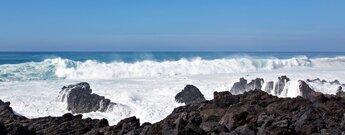
[[[0,51],[345,51],[344,0],[2,0]]]

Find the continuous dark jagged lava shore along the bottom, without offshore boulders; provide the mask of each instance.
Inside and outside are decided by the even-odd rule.
[[[175,108],[160,122],[140,125],[130,117],[114,126],[81,115],[26,119],[0,101],[0,131],[11,134],[208,135],[208,134],[345,134],[345,98],[316,94],[300,81],[304,97],[278,98],[260,90],[232,95],[214,92],[214,99]]]

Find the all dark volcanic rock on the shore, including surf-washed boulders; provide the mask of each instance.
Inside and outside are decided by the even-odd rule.
[[[90,85],[82,82],[64,86],[57,96],[58,100],[67,102],[71,112],[61,117],[29,119],[17,114],[10,102],[0,100],[0,135],[345,134],[345,92],[342,87],[336,95],[328,95],[314,91],[300,80],[300,96],[296,98],[268,94],[284,92],[283,87],[288,81],[282,76],[276,84],[272,82],[263,87],[261,78],[249,83],[241,78],[230,91],[214,92],[212,100],[206,100],[196,86],[187,85],[175,96],[176,102],[186,105],[175,108],[163,120],[147,123],[132,116],[116,125],[109,125],[106,119],[82,118],[79,113],[126,107],[92,93]]]

